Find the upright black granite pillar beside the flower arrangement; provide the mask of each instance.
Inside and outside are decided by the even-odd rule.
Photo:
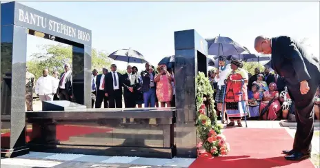
[[[195,30],[174,32],[174,78],[176,81],[176,127],[174,145],[177,157],[197,157],[196,76],[207,74],[208,43]],[[188,133],[188,134],[186,134]]]

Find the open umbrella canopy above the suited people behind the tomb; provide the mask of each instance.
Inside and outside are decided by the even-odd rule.
[[[131,49],[121,49],[113,52],[108,56],[110,59],[114,59],[115,61],[123,61],[126,63],[148,63],[146,59],[144,59],[143,55],[136,50]]]

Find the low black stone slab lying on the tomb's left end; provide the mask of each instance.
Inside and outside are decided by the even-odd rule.
[[[86,109],[86,105],[80,105],[70,101],[43,101],[42,111],[68,111],[72,109]]]

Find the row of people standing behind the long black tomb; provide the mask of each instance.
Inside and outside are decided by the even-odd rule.
[[[174,107],[175,86],[174,71],[166,65],[154,66],[146,63],[146,70],[139,73],[138,68],[128,65],[125,74],[117,72],[117,65],[110,66],[110,72],[103,68],[102,74],[97,70],[91,75],[92,108],[126,108],[134,107]],[[72,101],[72,70],[70,64],[64,65],[64,72],[48,69],[37,80],[26,70],[26,105],[27,111],[33,111],[32,92],[39,96],[40,101]]]

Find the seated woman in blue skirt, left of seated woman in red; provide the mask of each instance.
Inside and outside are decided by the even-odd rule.
[[[263,94],[259,92],[259,85],[256,82],[252,83],[251,91],[248,91],[248,105],[250,117],[256,118],[259,116],[259,106],[262,100]]]

